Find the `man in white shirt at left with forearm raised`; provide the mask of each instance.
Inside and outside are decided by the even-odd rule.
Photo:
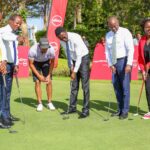
[[[7,72],[5,75],[5,79],[3,75],[0,74],[0,82],[2,83],[3,90],[1,91],[1,99],[2,99],[2,112],[1,119],[2,123],[5,126],[13,125],[13,121],[18,121],[18,118],[15,118],[10,113],[10,96],[12,89],[12,80],[14,72],[18,72],[18,53],[17,46],[18,42],[24,42],[24,38],[21,36],[17,36],[15,32],[20,28],[22,24],[22,17],[20,15],[12,15],[9,18],[8,25],[0,28],[0,36],[3,40],[5,49],[6,49],[6,61],[7,61]],[[3,56],[4,57],[4,56]],[[6,89],[4,87],[4,80],[6,80]]]

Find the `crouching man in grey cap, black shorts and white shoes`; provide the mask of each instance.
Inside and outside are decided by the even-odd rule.
[[[50,110],[55,110],[55,107],[51,102],[52,71],[54,68],[55,51],[54,48],[49,45],[47,38],[41,38],[39,43],[36,43],[30,48],[28,59],[33,74],[33,80],[35,82],[35,92],[38,100],[37,111],[43,110],[41,82],[46,84],[47,107]]]

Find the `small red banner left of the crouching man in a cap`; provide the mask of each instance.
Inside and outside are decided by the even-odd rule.
[[[29,77],[28,51],[29,47],[18,46],[18,59],[19,59],[18,77],[21,78]]]

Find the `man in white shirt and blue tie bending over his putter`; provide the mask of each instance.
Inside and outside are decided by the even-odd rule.
[[[79,118],[89,116],[89,51],[81,36],[76,33],[66,32],[63,27],[55,30],[56,36],[61,40],[61,45],[65,49],[68,59],[68,67],[71,73],[71,95],[68,114],[76,112],[79,82],[81,79],[83,89],[83,108]]]

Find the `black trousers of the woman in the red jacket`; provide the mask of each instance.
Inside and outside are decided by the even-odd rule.
[[[148,110],[150,112],[150,73],[148,73],[147,79],[145,81],[145,91],[146,91]]]

